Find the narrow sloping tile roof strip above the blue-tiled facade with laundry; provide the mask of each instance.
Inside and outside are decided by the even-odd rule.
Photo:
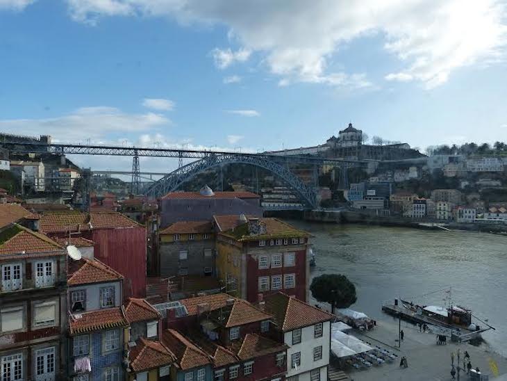
[[[69,316],[70,334],[82,334],[116,327],[128,327],[122,307],[99,309]]]

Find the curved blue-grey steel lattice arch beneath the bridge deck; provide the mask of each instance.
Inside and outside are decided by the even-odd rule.
[[[315,208],[317,206],[317,194],[315,193],[315,188],[304,184],[304,182],[294,175],[294,173],[290,172],[287,167],[280,165],[271,159],[272,158],[269,156],[260,155],[245,156],[233,153],[219,155],[210,154],[204,159],[184,165],[168,175],[165,175],[162,179],[151,185],[147,189],[146,194],[151,197],[162,197],[163,195],[178,189],[181,184],[189,181],[200,172],[219,165],[242,163],[255,165],[259,168],[269,170],[269,172],[272,172],[274,175],[285,181],[285,184],[290,186],[290,188],[292,188],[292,190],[301,197],[301,200],[303,200],[307,206]]]

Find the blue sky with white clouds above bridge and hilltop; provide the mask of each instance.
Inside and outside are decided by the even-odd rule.
[[[506,58],[507,1],[0,0],[0,131],[258,152],[352,122],[423,150],[493,143]]]

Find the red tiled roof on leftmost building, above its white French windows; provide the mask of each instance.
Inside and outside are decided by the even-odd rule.
[[[63,247],[51,238],[33,232],[21,225],[12,224],[1,232],[5,241],[0,242],[0,254],[26,254],[62,251]]]

